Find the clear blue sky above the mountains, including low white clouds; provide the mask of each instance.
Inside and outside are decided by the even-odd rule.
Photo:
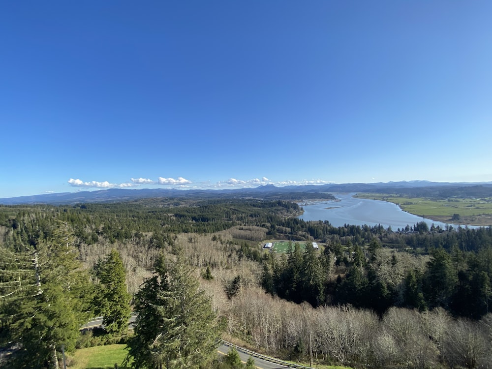
[[[492,181],[491,1],[2,1],[0,197]]]

